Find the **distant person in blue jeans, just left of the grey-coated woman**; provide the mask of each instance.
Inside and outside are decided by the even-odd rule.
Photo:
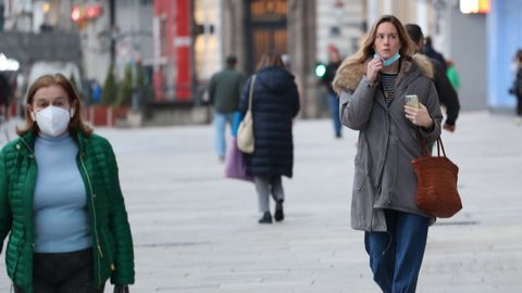
[[[339,51],[334,46],[328,47],[328,64],[326,65],[326,71],[324,75],[321,77],[321,81],[328,90],[328,101],[330,101],[330,109],[332,115],[332,122],[334,123],[334,133],[336,138],[341,138],[341,125],[339,118],[339,98],[337,93],[332,88],[332,81],[334,81],[335,73],[337,68],[340,66],[340,59]]]

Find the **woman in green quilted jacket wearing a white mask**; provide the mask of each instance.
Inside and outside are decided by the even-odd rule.
[[[0,151],[0,252],[15,293],[101,293],[134,283],[130,228],[107,139],[61,74],[27,91],[20,138]]]

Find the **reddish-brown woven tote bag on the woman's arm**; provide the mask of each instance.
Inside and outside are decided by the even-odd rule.
[[[424,142],[423,146],[424,156],[412,162],[418,179],[417,206],[434,217],[449,218],[462,208],[457,190],[459,167],[446,157],[440,137],[437,139],[437,156],[431,155]]]

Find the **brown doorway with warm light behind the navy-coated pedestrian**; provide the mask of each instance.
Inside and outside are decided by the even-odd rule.
[[[287,53],[287,0],[248,0],[246,5],[247,71],[253,73],[268,51]]]

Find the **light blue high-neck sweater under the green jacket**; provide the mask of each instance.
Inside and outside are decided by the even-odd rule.
[[[92,246],[77,154],[78,146],[70,135],[36,138],[35,252],[65,253]]]

